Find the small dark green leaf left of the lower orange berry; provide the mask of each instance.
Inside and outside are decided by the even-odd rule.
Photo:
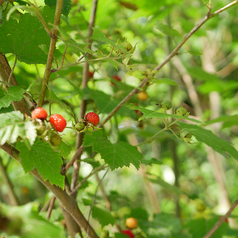
[[[112,214],[103,208],[94,206],[92,209],[92,216],[93,218],[97,219],[99,223],[102,225],[102,227],[106,225],[114,225],[116,219],[112,216]]]

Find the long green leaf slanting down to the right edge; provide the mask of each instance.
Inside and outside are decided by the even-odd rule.
[[[210,146],[213,150],[217,151],[226,158],[232,156],[238,160],[238,151],[230,144],[230,142],[225,141],[217,137],[211,131],[206,130],[200,126],[185,124],[179,122],[179,129],[186,129],[191,132],[198,141]]]

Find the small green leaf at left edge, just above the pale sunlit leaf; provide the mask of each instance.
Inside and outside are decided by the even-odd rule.
[[[25,92],[24,89],[18,86],[8,87],[7,90],[8,92],[5,93],[3,96],[0,95],[0,109],[2,107],[9,107],[11,101],[21,101]]]

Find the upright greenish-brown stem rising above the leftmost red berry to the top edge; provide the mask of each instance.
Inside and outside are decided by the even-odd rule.
[[[51,36],[50,49],[49,49],[49,53],[48,53],[44,79],[43,79],[43,82],[42,82],[42,85],[41,85],[41,92],[40,92],[40,97],[39,97],[38,105],[37,105],[38,107],[41,107],[43,105],[46,89],[47,89],[48,82],[49,82],[52,62],[54,60],[55,45],[56,45],[56,41],[57,41],[58,26],[60,24],[60,17],[61,17],[62,7],[63,7],[63,0],[57,0],[56,10],[55,10],[54,26],[53,26],[53,29],[52,29],[51,35],[50,35]]]

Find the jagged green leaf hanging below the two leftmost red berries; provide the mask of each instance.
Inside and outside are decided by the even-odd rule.
[[[64,188],[64,176],[60,174],[63,161],[60,154],[53,151],[48,143],[36,140],[29,151],[19,142],[17,149],[20,151],[21,164],[26,173],[36,168],[44,180],[48,179],[51,184]]]

